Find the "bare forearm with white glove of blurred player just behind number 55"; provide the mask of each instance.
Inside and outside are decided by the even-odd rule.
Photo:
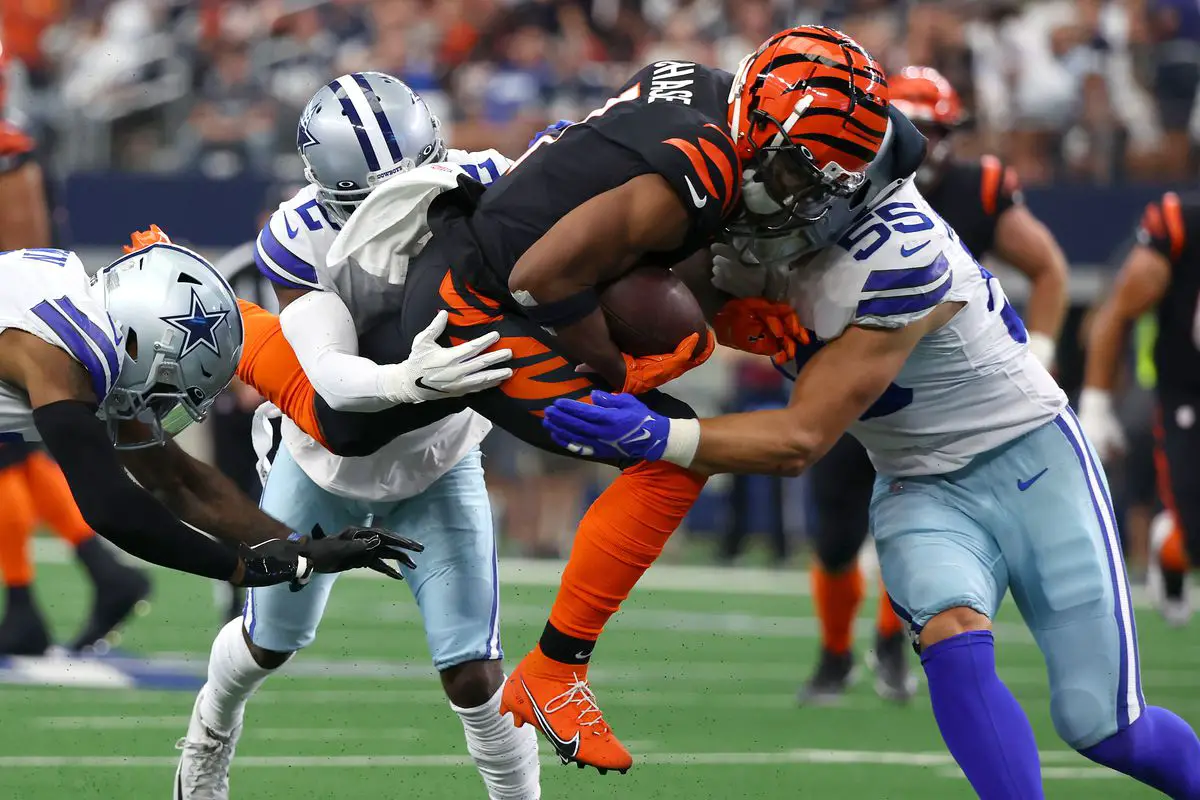
[[[1030,302],[1025,308],[1030,350],[1043,366],[1050,367],[1067,317],[1067,257],[1049,228],[1024,205],[1014,205],[1000,215],[992,249],[1030,279]]]

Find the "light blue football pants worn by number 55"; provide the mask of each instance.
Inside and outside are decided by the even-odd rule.
[[[1012,590],[1069,745],[1090,747],[1141,715],[1138,631],[1108,481],[1070,409],[959,471],[880,476],[871,534],[888,594],[914,632],[955,607],[994,618]]]

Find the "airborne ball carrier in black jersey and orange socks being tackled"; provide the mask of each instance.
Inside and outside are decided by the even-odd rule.
[[[376,414],[334,411],[314,401],[294,355],[296,368],[280,369],[290,348],[274,335],[277,323],[245,305],[239,377],[342,455],[373,452],[456,403],[535,446],[581,457],[588,453],[559,447],[541,426],[542,409],[557,398],[619,387],[678,409],[654,390],[707,359],[712,333],[684,339],[672,354],[624,355],[596,287],[635,264],[672,265],[707,249],[742,212],[743,186],[756,209],[773,210],[764,224],[822,217],[862,187],[887,127],[883,73],[830,29],[776,34],[748,56],[733,86],[727,72],[659,61],[604,108],[541,137],[486,192],[464,184],[434,200],[433,236],[408,267],[403,308],[361,338],[360,354],[403,360],[413,337],[445,311],[451,342],[502,333],[496,347],[512,350],[514,375],[499,387]],[[538,727],[564,762],[624,770],[632,757],[604,722],[587,664],[704,479],[665,462],[619,465],[622,475],[580,524],[550,621],[506,681],[502,709]]]

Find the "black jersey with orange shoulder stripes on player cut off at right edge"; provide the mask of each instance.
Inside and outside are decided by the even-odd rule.
[[[1200,194],[1168,192],[1146,206],[1138,243],[1163,254],[1171,283],[1158,303],[1158,385],[1200,389]]]

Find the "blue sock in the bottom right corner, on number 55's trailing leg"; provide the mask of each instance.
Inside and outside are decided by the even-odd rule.
[[[1175,800],[1200,800],[1200,739],[1166,709],[1150,705],[1124,730],[1079,752]]]

